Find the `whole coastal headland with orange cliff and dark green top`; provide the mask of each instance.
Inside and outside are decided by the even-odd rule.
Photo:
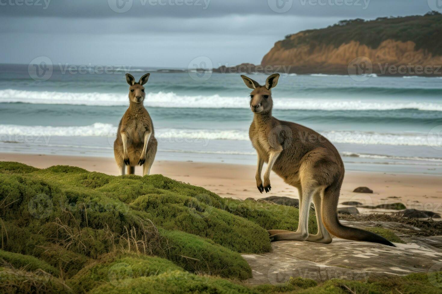
[[[347,74],[354,59],[385,75],[442,75],[442,15],[340,21],[275,43],[261,66],[291,73]],[[276,70],[277,71],[277,70]]]

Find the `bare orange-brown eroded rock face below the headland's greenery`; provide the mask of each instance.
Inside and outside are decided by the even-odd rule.
[[[293,34],[290,39],[296,42],[304,32]],[[442,64],[442,56],[432,56],[423,49],[416,50],[412,41],[385,40],[378,48],[361,45],[358,41],[351,41],[339,47],[333,45],[316,46],[313,50],[308,44],[294,48],[285,48],[283,41],[275,43],[274,47],[263,57],[263,66],[290,66],[290,72],[297,73],[325,73],[347,74],[349,63],[359,56],[366,56],[371,60],[372,72],[384,73],[379,64],[389,64],[396,67],[407,66],[434,66]],[[391,73],[392,74],[392,73]]]

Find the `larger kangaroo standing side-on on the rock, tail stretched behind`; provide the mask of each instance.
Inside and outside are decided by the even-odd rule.
[[[339,223],[336,208],[344,178],[344,164],[335,146],[314,130],[272,116],[271,88],[278,84],[279,74],[267,78],[260,86],[241,75],[250,89],[250,108],[254,113],[249,136],[258,153],[256,185],[259,192],[269,192],[270,171],[299,191],[299,224],[296,232],[269,230],[272,241],[297,240],[330,243],[329,232],[336,237],[394,246],[387,239],[369,231],[346,227]],[[261,170],[267,169],[264,182]],[[317,234],[309,234],[309,208],[313,200],[318,225]]]

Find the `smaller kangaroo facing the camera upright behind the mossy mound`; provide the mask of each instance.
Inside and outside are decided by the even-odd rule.
[[[139,82],[131,74],[126,74],[129,84],[129,108],[118,124],[117,138],[114,142],[114,155],[120,174],[133,174],[135,166],[143,166],[143,175],[149,175],[156,155],[156,141],[152,119],[143,105],[146,97],[144,84],[150,74],[145,74]]]

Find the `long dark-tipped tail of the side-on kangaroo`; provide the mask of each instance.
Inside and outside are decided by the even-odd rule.
[[[324,190],[321,217],[328,232],[347,240],[381,243],[396,247],[392,242],[377,234],[354,227],[347,227],[339,223],[336,208],[338,206],[340,186],[340,184],[332,184]]]

